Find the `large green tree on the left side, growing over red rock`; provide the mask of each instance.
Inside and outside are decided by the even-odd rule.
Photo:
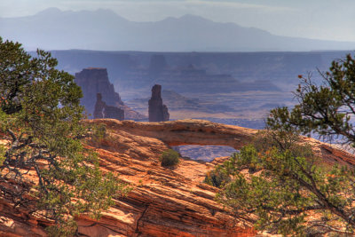
[[[20,188],[1,186],[0,192],[17,206],[34,207],[54,220],[51,235],[72,235],[81,213],[99,217],[112,198],[127,193],[111,173],[102,174],[96,154],[83,146],[89,129],[80,122],[82,97],[74,77],[59,71],[45,51],[31,58],[20,43],[0,38],[0,182],[9,178]],[[95,136],[104,135],[98,128]],[[32,182],[28,172],[36,171]],[[35,185],[36,190],[31,188]],[[26,195],[35,203],[28,205]]]

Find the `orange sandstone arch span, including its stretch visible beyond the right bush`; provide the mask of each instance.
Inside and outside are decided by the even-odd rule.
[[[134,122],[100,119],[86,121],[105,123],[110,129],[125,134],[155,138],[167,146],[215,145],[231,146],[236,150],[248,145],[258,130],[205,120],[177,120],[168,122]],[[314,138],[303,138],[312,145],[313,152],[324,162],[355,165],[355,155]]]

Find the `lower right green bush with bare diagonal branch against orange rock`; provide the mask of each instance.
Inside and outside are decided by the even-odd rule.
[[[271,233],[352,233],[355,171],[316,165],[310,146],[276,141],[273,132],[216,168],[225,174],[217,201],[237,217],[256,215],[256,228]]]

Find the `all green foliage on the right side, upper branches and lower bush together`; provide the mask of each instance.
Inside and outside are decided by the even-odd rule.
[[[299,104],[291,110],[273,109],[266,132],[256,137],[254,145],[243,147],[211,172],[219,178],[217,200],[237,217],[256,215],[260,230],[295,236],[354,235],[354,167],[322,165],[299,135],[342,136],[355,144],[351,122],[355,60],[350,55],[336,60],[320,75],[321,85],[300,75]]]

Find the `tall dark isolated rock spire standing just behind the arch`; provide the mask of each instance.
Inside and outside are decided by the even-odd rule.
[[[169,121],[168,107],[162,104],[162,86],[155,84],[152,88],[152,98],[148,101],[149,122]]]

